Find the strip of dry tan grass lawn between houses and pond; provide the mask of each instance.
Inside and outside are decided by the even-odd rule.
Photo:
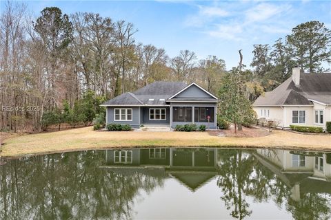
[[[331,135],[301,135],[272,131],[263,137],[218,137],[207,132],[92,131],[92,127],[10,137],[3,141],[2,157],[148,146],[223,146],[297,148],[331,151]]]

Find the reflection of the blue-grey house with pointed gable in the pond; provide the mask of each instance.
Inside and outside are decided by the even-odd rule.
[[[197,190],[217,175],[217,149],[147,148],[106,151],[106,168],[165,173]]]

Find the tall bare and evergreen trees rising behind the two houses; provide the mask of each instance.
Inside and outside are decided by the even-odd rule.
[[[1,129],[41,131],[52,113],[61,116],[59,124],[89,124],[104,111],[99,107],[104,100],[159,80],[196,82],[219,96],[233,91],[224,89],[225,83],[239,80],[230,85],[240,83],[236,91],[241,100],[250,100],[245,102],[250,108],[295,65],[322,72],[323,63],[331,61],[331,31],[319,21],[298,25],[271,47],[254,45],[252,68],[242,64],[230,71],[222,58],[198,60],[190,50],[171,58],[163,48],[137,42],[137,31],[128,21],[88,12],[63,14],[57,7],[35,18],[26,4],[8,1],[0,15]],[[234,73],[239,77],[229,77]]]

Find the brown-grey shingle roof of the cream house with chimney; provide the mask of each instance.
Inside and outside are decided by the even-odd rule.
[[[331,104],[331,74],[302,73],[300,85],[295,85],[290,77],[257,98],[254,106],[312,105],[312,101]]]

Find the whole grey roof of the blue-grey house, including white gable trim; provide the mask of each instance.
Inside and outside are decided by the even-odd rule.
[[[190,85],[197,85],[192,83]],[[126,92],[112,98],[104,102],[101,105],[163,105],[166,102],[169,102],[170,98],[176,94],[179,94],[181,91],[185,90],[185,88],[190,87],[190,85],[186,85],[181,82],[154,82],[146,87],[142,87],[137,91]],[[199,87],[199,85],[197,85]],[[172,98],[171,101],[181,101],[181,102],[217,102],[217,98],[212,98],[212,94],[205,89],[199,87],[202,91],[208,93],[210,98]]]

